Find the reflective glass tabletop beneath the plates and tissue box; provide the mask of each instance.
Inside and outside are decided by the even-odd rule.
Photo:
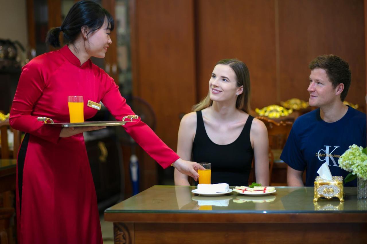
[[[233,189],[233,187],[230,187]],[[115,206],[106,213],[367,213],[367,201],[357,200],[357,188],[344,188],[344,202],[320,199],[313,202],[313,187],[276,187],[265,196],[235,192],[222,196],[200,196],[195,186],[152,186]]]

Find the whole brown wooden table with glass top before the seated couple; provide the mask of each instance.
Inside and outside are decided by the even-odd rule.
[[[115,243],[366,243],[367,201],[313,203],[313,187],[267,196],[197,196],[194,186],[153,186],[108,208]],[[221,205],[221,206],[215,206]]]

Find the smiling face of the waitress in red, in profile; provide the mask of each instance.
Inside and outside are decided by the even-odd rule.
[[[89,56],[104,58],[107,48],[112,43],[110,38],[111,25],[105,19],[102,27],[86,36],[85,47]]]

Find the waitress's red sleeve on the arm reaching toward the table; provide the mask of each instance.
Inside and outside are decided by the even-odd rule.
[[[106,75],[107,76],[107,75]],[[119,86],[115,84],[112,78],[106,77],[109,81],[103,82],[106,84],[107,92],[102,98],[102,103],[110,111],[117,120],[121,120],[126,115],[135,114],[130,106],[126,104],[126,99],[121,96]],[[179,156],[172,151],[148,125],[139,119],[137,122],[126,123],[124,129],[126,132],[149,154],[156,160],[164,169],[170,166],[171,163],[179,159]]]

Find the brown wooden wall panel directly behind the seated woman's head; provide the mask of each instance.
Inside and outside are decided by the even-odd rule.
[[[276,92],[275,11],[273,0],[196,1],[198,97],[208,93],[214,64],[237,58],[247,64],[251,108],[274,102]]]

